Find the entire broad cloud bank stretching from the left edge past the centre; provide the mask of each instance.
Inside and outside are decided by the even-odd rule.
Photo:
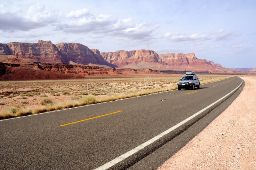
[[[14,7],[12,10],[0,8],[0,23],[1,41],[10,40],[10,36],[13,40],[21,40],[22,37],[28,40],[49,37],[49,34],[52,34],[52,37],[79,37],[90,43],[116,39],[121,44],[133,45],[134,41],[145,44],[152,42],[152,39],[156,39],[155,31],[160,27],[154,22],[136,22],[132,18],[118,19],[108,14],[95,15],[87,8],[62,14],[53,12],[40,3],[26,8]],[[46,36],[43,36],[44,34]]]

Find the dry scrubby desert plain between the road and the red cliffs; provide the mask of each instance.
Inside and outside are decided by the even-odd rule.
[[[0,81],[0,119],[177,89],[183,74]],[[233,75],[199,74],[201,84]]]

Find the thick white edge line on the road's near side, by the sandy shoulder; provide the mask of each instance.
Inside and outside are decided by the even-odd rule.
[[[243,83],[243,80],[241,82],[241,84],[236,88],[238,89]],[[197,115],[199,115],[200,113],[204,112],[205,110],[209,109],[210,107],[212,107],[214,104],[220,102],[222,99],[224,99],[225,97],[227,97],[228,95],[230,95],[231,93],[233,93],[236,89],[232,90],[231,92],[229,92],[228,94],[226,94],[225,96],[221,97],[219,100],[215,101],[214,103],[208,105],[207,107],[205,107],[204,109],[200,110],[199,112],[196,112],[195,114],[193,114],[192,116],[188,117],[187,119],[181,121],[180,123],[176,124],[175,126],[173,126],[172,128],[169,128],[167,130],[165,130],[164,132],[160,133],[159,135],[156,135],[155,137],[153,137],[152,139],[149,139],[147,142],[141,144],[143,147],[141,147],[141,145],[137,146],[136,148],[133,148],[131,151],[128,151],[126,153],[124,153],[123,155],[109,161],[108,163],[96,168],[95,170],[105,170],[110,168],[111,166],[121,162],[122,160],[124,160],[125,158],[128,158],[129,156],[131,156],[132,154],[136,153],[137,151],[140,151],[142,148],[150,145],[151,143],[155,142],[157,139],[159,139],[160,136],[164,136],[170,132],[172,132],[174,129],[180,127],[181,125],[183,125],[184,123],[188,122],[189,120],[193,119],[194,117],[196,117]]]

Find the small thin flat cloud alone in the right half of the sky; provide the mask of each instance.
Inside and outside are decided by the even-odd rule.
[[[227,40],[230,38],[233,38],[235,36],[238,36],[237,33],[220,29],[219,31],[208,33],[208,34],[171,34],[170,32],[167,32],[164,34],[164,37],[167,38],[168,41],[171,42],[200,42],[200,41],[222,41]]]

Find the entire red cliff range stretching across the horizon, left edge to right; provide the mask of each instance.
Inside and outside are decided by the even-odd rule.
[[[154,50],[118,50],[102,52],[80,43],[58,43],[39,40],[37,43],[0,43],[2,63],[51,63],[153,69],[173,71],[207,71],[210,73],[256,71],[256,68],[227,69],[207,59],[196,58],[195,53],[157,54]]]

